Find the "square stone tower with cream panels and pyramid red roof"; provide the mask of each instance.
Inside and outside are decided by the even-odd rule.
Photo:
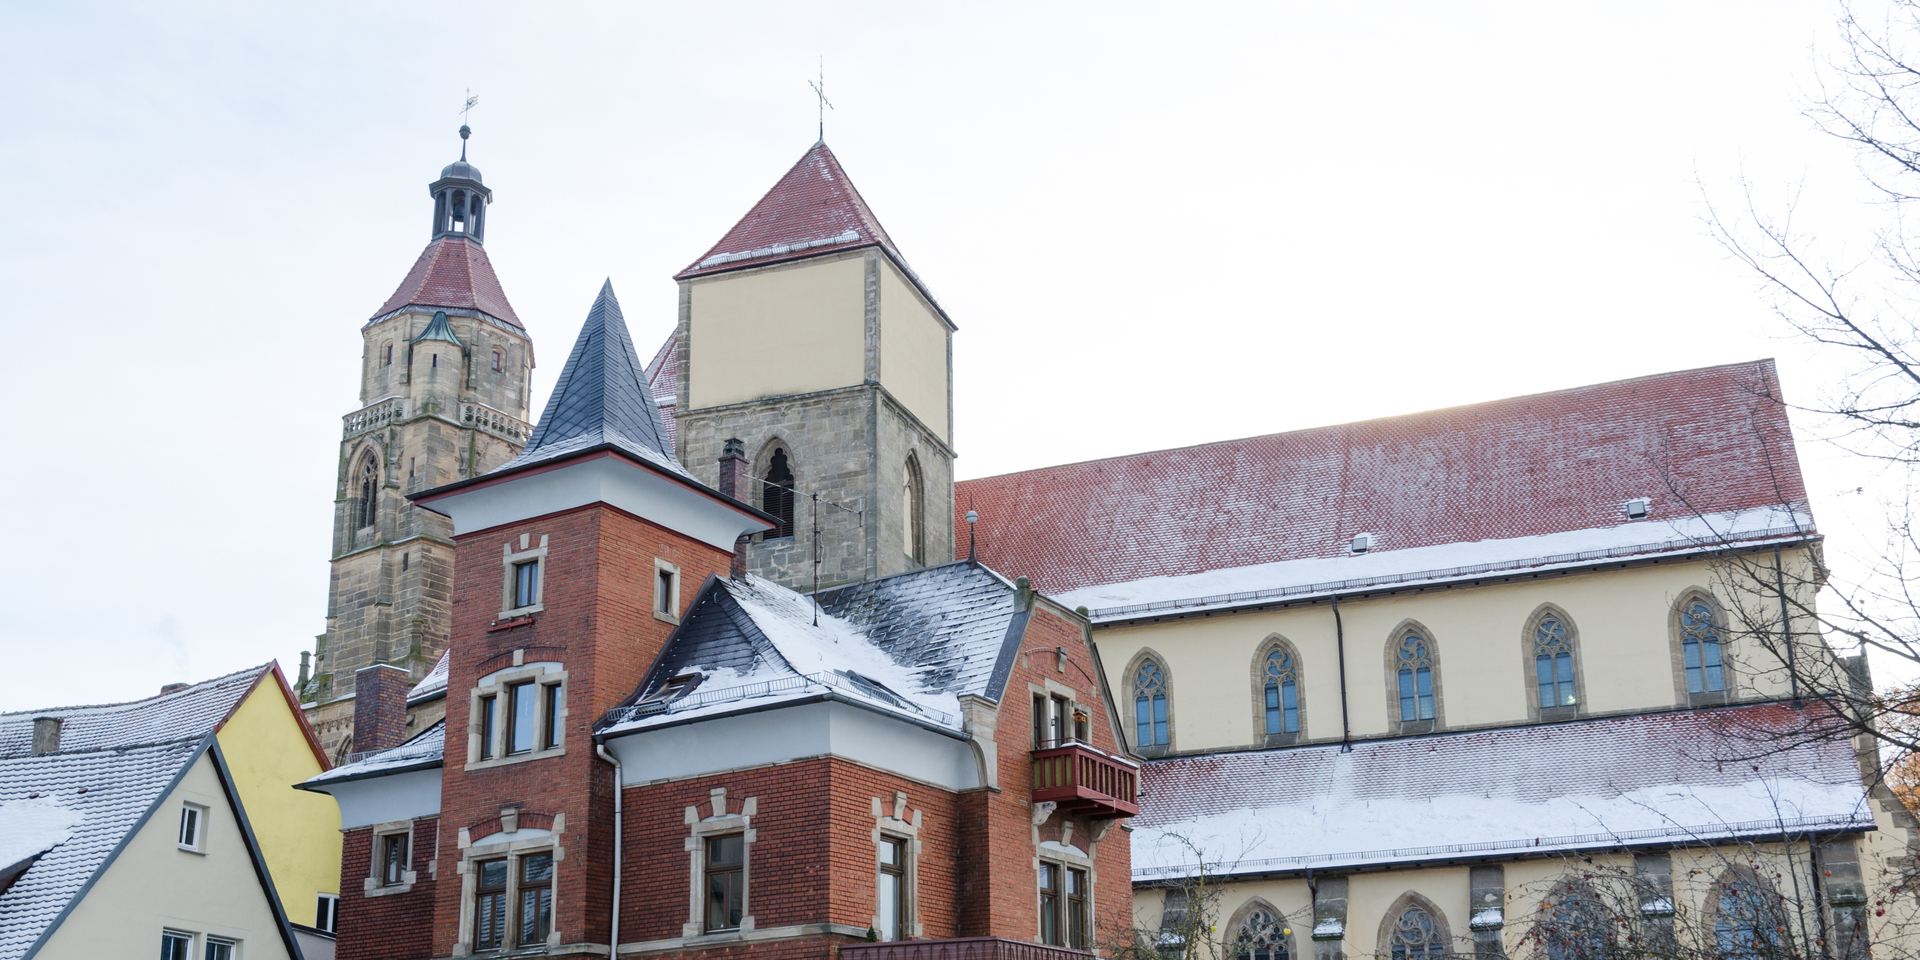
[[[741,442],[745,499],[783,520],[755,538],[753,572],[810,589],[816,557],[822,586],[952,559],[954,324],[833,152],[814,144],[674,278],[680,324],[649,382],[672,367],[660,403],[703,482]]]

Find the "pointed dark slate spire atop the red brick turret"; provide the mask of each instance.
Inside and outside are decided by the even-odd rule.
[[[612,444],[647,463],[676,474],[691,476],[674,459],[674,445],[660,426],[660,411],[647,390],[645,367],[626,332],[626,317],[612,296],[612,280],[588,311],[588,323],[574,340],[561,382],[547,397],[534,436],[511,463],[509,470],[530,463],[551,461],[568,453]]]

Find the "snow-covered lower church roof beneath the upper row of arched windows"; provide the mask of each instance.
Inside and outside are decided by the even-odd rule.
[[[1263,874],[1874,829],[1845,737],[1755,751],[1807,722],[1755,705],[1152,760],[1133,876],[1192,872],[1188,841],[1215,872]]]

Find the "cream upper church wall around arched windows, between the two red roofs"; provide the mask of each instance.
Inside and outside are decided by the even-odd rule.
[[[1407,620],[1427,628],[1438,653],[1442,728],[1528,720],[1530,657],[1524,632],[1551,603],[1578,636],[1584,712],[1630,712],[1674,707],[1672,609],[1690,588],[1713,591],[1709,563],[1674,563],[1524,580],[1405,597],[1342,601],[1346,628],[1348,708],[1356,737],[1386,735],[1398,693],[1386,668],[1388,643]],[[1133,735],[1129,666],[1152,649],[1171,684],[1171,747],[1181,753],[1248,747],[1256,728],[1254,659],[1269,636],[1300,653],[1302,732],[1306,739],[1340,739],[1340,684],[1334,616],[1329,605],[1219,614],[1094,632],[1119,710]],[[1726,657],[1738,697],[1786,693],[1786,680],[1764,651],[1730,630]],[[1392,705],[1392,707],[1390,707]]]

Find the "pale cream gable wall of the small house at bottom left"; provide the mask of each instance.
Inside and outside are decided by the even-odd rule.
[[[209,810],[205,852],[179,849],[188,801]],[[246,960],[290,956],[209,755],[194,760],[38,956],[159,956],[163,929],[198,933],[194,956],[205,956],[209,933],[240,941]]]

